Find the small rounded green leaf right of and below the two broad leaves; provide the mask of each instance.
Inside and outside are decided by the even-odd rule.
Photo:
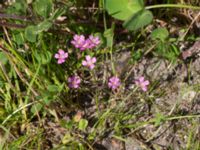
[[[169,37],[169,32],[166,28],[157,28],[152,31],[151,38],[152,39],[160,39],[161,41],[166,40]]]

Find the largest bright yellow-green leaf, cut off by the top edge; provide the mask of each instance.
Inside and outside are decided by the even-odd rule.
[[[105,8],[112,17],[126,20],[144,9],[144,2],[143,0],[105,0]]]

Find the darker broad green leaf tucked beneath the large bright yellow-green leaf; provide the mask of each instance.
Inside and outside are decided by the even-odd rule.
[[[140,10],[130,18],[128,18],[123,26],[128,30],[138,30],[148,24],[153,20],[153,15],[149,10]]]

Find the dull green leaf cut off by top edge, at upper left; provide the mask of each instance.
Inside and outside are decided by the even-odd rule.
[[[52,12],[52,0],[36,0],[33,4],[36,13],[44,18],[47,18]]]

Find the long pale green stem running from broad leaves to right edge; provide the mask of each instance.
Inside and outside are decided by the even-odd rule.
[[[183,4],[158,4],[145,7],[145,9],[154,9],[154,8],[187,8],[187,9],[200,10],[200,7],[198,6],[183,5]]]

